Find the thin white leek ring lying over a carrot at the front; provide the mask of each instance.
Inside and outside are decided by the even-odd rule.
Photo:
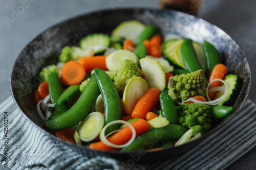
[[[127,143],[118,145],[118,144],[111,143],[108,139],[106,139],[106,136],[105,136],[106,128],[108,128],[109,126],[114,125],[114,124],[125,124],[125,125],[130,127],[130,129],[132,130],[132,137]],[[111,132],[111,133],[114,133],[114,132]],[[134,141],[134,139],[136,137],[136,131],[135,131],[135,128],[131,124],[129,124],[129,123],[123,121],[123,120],[115,120],[115,121],[105,125],[105,127],[101,130],[99,137],[100,137],[101,141],[109,147],[124,148],[124,147],[129,146]]]

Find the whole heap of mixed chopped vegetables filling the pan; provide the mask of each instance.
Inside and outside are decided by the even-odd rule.
[[[40,72],[37,110],[57,137],[95,150],[175,147],[208,132],[232,110],[242,79],[227,74],[214,45],[137,20],[112,35],[65,46]]]

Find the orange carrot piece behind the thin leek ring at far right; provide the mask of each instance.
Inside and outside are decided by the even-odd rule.
[[[212,70],[211,70],[211,74],[210,74],[210,77],[209,77],[209,82],[214,80],[214,79],[224,79],[225,78],[225,75],[227,73],[227,67],[223,64],[217,64]],[[209,89],[211,88],[214,88],[214,87],[218,87],[221,85],[221,82],[220,81],[216,81],[216,82],[212,82],[210,84],[210,87]],[[216,94],[216,91],[214,92],[210,92],[208,95],[209,95],[209,98],[210,100],[214,100],[214,97],[215,97],[215,94]]]

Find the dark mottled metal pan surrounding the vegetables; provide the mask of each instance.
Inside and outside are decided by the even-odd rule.
[[[228,73],[236,74],[243,79],[242,90],[233,104],[234,110],[211,131],[204,134],[200,139],[180,147],[141,154],[139,160],[141,162],[160,161],[188,150],[225,125],[234,115],[239,114],[238,111],[244,104],[250,89],[251,74],[249,65],[238,44],[224,31],[203,19],[172,10],[120,9],[94,12],[61,22],[38,35],[19,54],[12,70],[10,80],[11,93],[20,112],[35,127],[56,141],[68,145],[84,156],[103,155],[117,159],[130,159],[130,153],[94,151],[57,138],[44,127],[44,122],[36,110],[34,93],[40,82],[38,77],[40,70],[49,64],[57,62],[57,56],[63,46],[78,45],[83,36],[91,33],[111,34],[112,30],[120,22],[131,19],[137,19],[145,23],[145,25],[154,24],[158,26],[163,35],[174,33],[182,37],[191,38],[199,43],[206,40],[214,44],[225,61]]]

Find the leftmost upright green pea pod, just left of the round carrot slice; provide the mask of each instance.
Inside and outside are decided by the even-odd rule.
[[[52,71],[49,75],[49,94],[52,103],[57,103],[59,96],[62,94],[62,88],[56,71]],[[66,112],[69,110],[68,103],[65,102],[60,105],[55,105],[54,110],[58,112]]]

